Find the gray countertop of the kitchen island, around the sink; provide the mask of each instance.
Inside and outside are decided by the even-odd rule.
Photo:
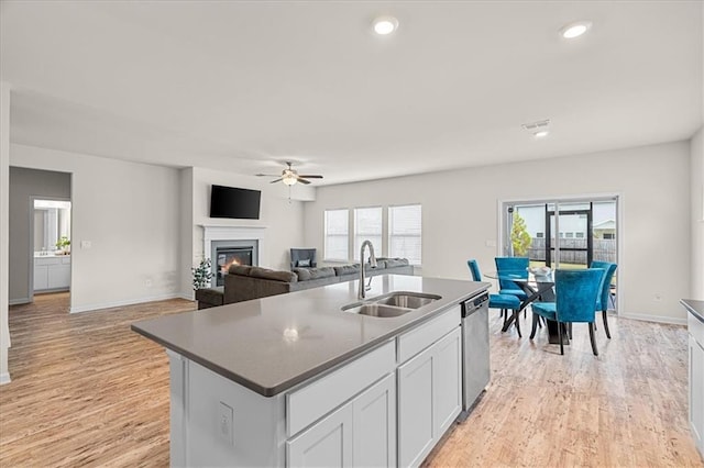
[[[356,280],[132,324],[132,330],[210,370],[275,395],[371,349],[449,307],[487,289],[487,282],[402,275],[372,279],[373,298],[392,291],[442,299],[397,317],[342,312],[356,302]]]

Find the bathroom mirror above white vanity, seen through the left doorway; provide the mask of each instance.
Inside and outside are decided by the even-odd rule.
[[[59,243],[59,239],[64,239]],[[70,201],[34,200],[35,255],[70,252]]]

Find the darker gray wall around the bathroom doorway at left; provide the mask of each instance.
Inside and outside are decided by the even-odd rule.
[[[30,216],[34,215],[32,197],[70,199],[70,174],[10,167],[10,281],[11,303],[30,297],[30,250],[33,235]]]

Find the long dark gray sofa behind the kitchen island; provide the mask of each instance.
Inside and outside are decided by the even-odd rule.
[[[370,268],[369,264],[364,267],[366,276],[414,274],[414,267],[405,258],[378,258],[376,268]],[[224,287],[199,289],[196,291],[196,300],[198,300],[198,309],[206,309],[351,281],[359,276],[360,264],[294,268],[293,271],[232,265],[224,277]]]

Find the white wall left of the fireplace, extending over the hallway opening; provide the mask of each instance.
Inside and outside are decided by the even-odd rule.
[[[10,164],[73,174],[72,312],[178,294],[177,169],[15,144]]]

